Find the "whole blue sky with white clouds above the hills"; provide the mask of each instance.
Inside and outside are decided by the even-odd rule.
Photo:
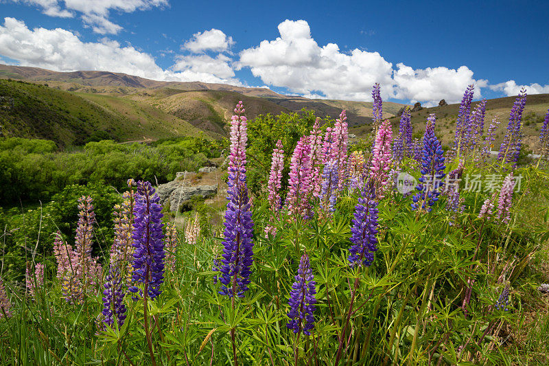
[[[261,5],[257,5],[261,3]],[[1,62],[458,102],[549,93],[549,1],[0,0]]]

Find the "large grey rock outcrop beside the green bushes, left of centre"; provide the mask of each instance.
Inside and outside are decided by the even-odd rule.
[[[218,194],[217,185],[189,185],[188,181],[178,180],[159,185],[158,193],[160,204],[170,203],[170,211],[177,211],[178,208],[193,196],[209,198]]]

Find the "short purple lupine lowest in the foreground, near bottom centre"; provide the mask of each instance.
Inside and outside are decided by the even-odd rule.
[[[316,310],[316,306],[314,306],[316,304],[314,296],[316,295],[316,282],[314,282],[314,275],[311,271],[307,253],[303,253],[299,261],[295,280],[288,300],[288,305],[290,305],[288,317],[290,321],[286,326],[294,330],[294,333],[303,331],[303,333],[311,335],[310,331],[314,328],[313,313]]]

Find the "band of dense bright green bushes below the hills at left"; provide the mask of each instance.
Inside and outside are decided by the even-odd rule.
[[[196,137],[151,146],[104,140],[68,152],[58,150],[53,141],[0,139],[0,203],[45,202],[71,184],[101,183],[121,189],[128,176],[165,183],[176,172],[196,171],[207,159],[219,157],[222,144]]]

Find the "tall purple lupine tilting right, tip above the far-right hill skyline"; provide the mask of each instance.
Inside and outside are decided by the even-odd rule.
[[[516,163],[522,146],[522,112],[526,105],[526,88],[520,89],[520,93],[511,108],[507,133],[500,146],[498,160],[503,163]]]

